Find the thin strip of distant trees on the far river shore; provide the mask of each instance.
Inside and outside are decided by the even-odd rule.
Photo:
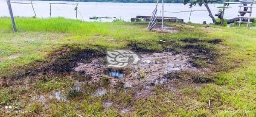
[[[113,3],[156,3],[157,0],[42,0],[42,1],[75,1],[75,2],[113,2]],[[233,0],[230,0],[233,1]],[[159,0],[161,3],[162,0]],[[216,3],[222,3],[218,1]],[[164,3],[184,3],[183,0],[164,0]]]

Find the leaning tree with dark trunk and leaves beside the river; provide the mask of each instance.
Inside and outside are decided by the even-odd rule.
[[[198,4],[199,6],[202,6],[204,4],[204,6],[207,8],[207,11],[209,12],[209,17],[211,17],[212,22],[216,24],[216,20],[212,15],[212,11],[210,10],[208,3],[217,3],[219,1],[223,1],[223,0],[184,0],[183,3],[184,4],[190,3],[189,4],[190,8],[192,6],[195,6],[196,4]]]

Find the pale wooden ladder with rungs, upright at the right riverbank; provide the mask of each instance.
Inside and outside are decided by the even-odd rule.
[[[253,0],[239,0],[240,2],[240,8],[239,8],[239,27],[241,25],[241,23],[247,23],[246,27],[249,26],[249,23],[252,23],[250,20],[253,18],[252,17],[252,10],[253,10]],[[248,6],[243,6],[243,3],[247,3]],[[247,11],[241,11],[241,8],[247,7],[248,10]],[[244,17],[244,16],[240,16],[241,13],[249,13],[248,17]],[[242,21],[242,18],[247,18],[247,22]]]

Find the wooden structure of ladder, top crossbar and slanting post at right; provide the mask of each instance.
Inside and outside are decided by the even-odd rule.
[[[253,0],[239,0],[239,2],[229,2],[224,0],[223,10],[222,10],[222,16],[221,16],[221,23],[223,23],[224,20],[224,11],[225,11],[225,4],[240,4],[239,5],[239,27],[241,26],[241,23],[247,23],[246,27],[248,27],[249,23],[251,22],[252,17],[252,9],[253,9]],[[249,6],[247,6],[249,4]],[[241,10],[241,8],[244,8],[244,10]],[[246,10],[245,10],[246,9]],[[249,11],[248,11],[249,9]],[[245,17],[244,15],[246,13],[249,13],[248,17]],[[246,21],[243,21],[243,19],[246,18]]]

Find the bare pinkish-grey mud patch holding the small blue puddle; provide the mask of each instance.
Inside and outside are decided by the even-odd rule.
[[[166,74],[175,74],[175,72],[181,71],[199,71],[198,68],[190,64],[191,58],[186,53],[145,53],[140,54],[140,58],[151,62],[131,64],[127,68],[114,70],[107,68],[102,63],[102,58],[95,58],[87,64],[78,63],[73,70],[82,72],[84,75],[90,75],[90,83],[100,82],[101,78],[105,77],[109,79],[110,86],[114,88],[117,86],[117,82],[120,81],[125,89],[138,89],[136,97],[151,93],[151,90],[157,84],[166,84],[169,80],[177,78],[175,75]]]

